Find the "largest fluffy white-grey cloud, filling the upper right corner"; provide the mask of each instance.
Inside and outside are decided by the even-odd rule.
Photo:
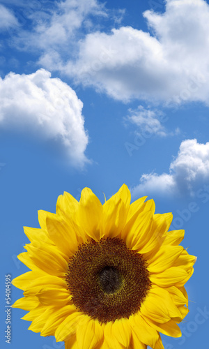
[[[208,3],[167,0],[164,13],[147,10],[144,17],[149,32],[121,27],[88,34],[79,42],[77,60],[60,69],[121,101],[208,105]]]

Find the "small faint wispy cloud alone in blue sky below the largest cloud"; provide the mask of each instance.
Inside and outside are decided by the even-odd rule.
[[[153,135],[167,135],[167,131],[162,125],[162,122],[166,121],[167,117],[160,110],[150,110],[139,105],[136,110],[130,109],[129,112],[130,114],[125,117],[125,120],[137,126],[137,129],[140,131]]]

